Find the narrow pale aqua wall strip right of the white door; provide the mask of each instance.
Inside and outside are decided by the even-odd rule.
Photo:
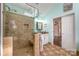
[[[75,12],[75,38],[76,38],[76,47],[79,51],[79,3],[74,4]]]

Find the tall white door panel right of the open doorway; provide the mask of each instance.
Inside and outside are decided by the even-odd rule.
[[[74,15],[62,17],[62,48],[75,50]]]

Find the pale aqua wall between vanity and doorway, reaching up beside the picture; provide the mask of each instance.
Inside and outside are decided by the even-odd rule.
[[[49,42],[53,43],[53,18],[63,14],[63,4],[55,4],[50,12],[47,14],[46,19],[48,22]]]

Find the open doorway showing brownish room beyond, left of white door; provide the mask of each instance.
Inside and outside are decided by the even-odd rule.
[[[54,28],[54,44],[61,47],[61,17],[53,19]]]

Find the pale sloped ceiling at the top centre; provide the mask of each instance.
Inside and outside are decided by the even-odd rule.
[[[14,3],[14,5],[17,5],[22,8],[27,8],[29,6],[37,8],[37,9],[39,9],[40,17],[44,17],[51,10],[54,3]],[[29,6],[27,6],[27,5],[29,5]]]

